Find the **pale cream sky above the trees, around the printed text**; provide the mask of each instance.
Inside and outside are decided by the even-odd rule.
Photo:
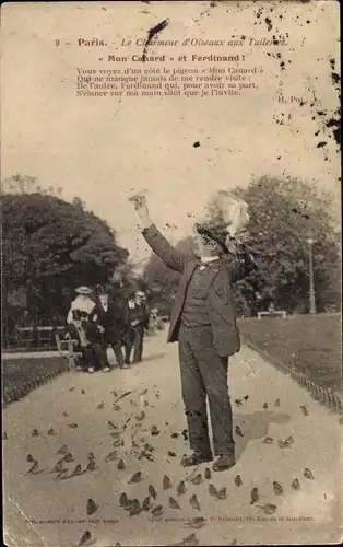
[[[122,53],[123,37],[145,37],[165,19],[165,39],[276,35],[286,46],[244,48],[245,66],[263,74],[258,89],[237,97],[76,97],[76,69],[104,67],[99,55],[110,49],[80,47],[79,38],[102,38],[110,53]],[[339,203],[340,156],[323,123],[338,108],[338,21],[331,1],[5,4],[1,179],[31,175],[43,187],[61,187],[64,199],[79,196],[137,260],[147,247],[128,201],[132,188],[147,190],[151,217],[172,242],[190,233],[189,214],[201,214],[216,189],[263,175],[304,178]]]

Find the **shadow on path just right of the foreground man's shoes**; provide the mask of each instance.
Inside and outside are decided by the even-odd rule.
[[[283,424],[289,420],[289,415],[272,412],[270,410],[259,410],[255,414],[236,414],[234,418],[235,424],[239,426],[244,434],[244,437],[235,435],[237,461],[246,450],[249,441],[263,440],[269,435],[270,423]]]

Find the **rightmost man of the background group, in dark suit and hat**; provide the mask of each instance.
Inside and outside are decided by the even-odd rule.
[[[133,299],[129,300],[131,333],[126,345],[126,359],[130,363],[133,347],[133,363],[139,363],[143,358],[144,330],[149,328],[149,311],[145,305],[145,294],[137,291]]]

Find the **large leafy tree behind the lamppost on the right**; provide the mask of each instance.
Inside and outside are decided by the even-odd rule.
[[[336,287],[340,263],[338,237],[332,217],[332,197],[319,194],[299,179],[262,177],[247,188],[237,188],[249,205],[250,245],[263,275],[263,299],[287,311],[308,311],[309,247],[314,240],[315,289],[318,310],[326,305],[324,289]],[[220,221],[216,199],[209,206],[213,221]],[[261,276],[253,275],[236,284],[238,301],[248,309],[262,290]]]

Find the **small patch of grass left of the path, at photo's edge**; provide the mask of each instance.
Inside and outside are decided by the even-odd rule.
[[[9,405],[68,369],[60,356],[23,357],[2,360],[2,401]]]

